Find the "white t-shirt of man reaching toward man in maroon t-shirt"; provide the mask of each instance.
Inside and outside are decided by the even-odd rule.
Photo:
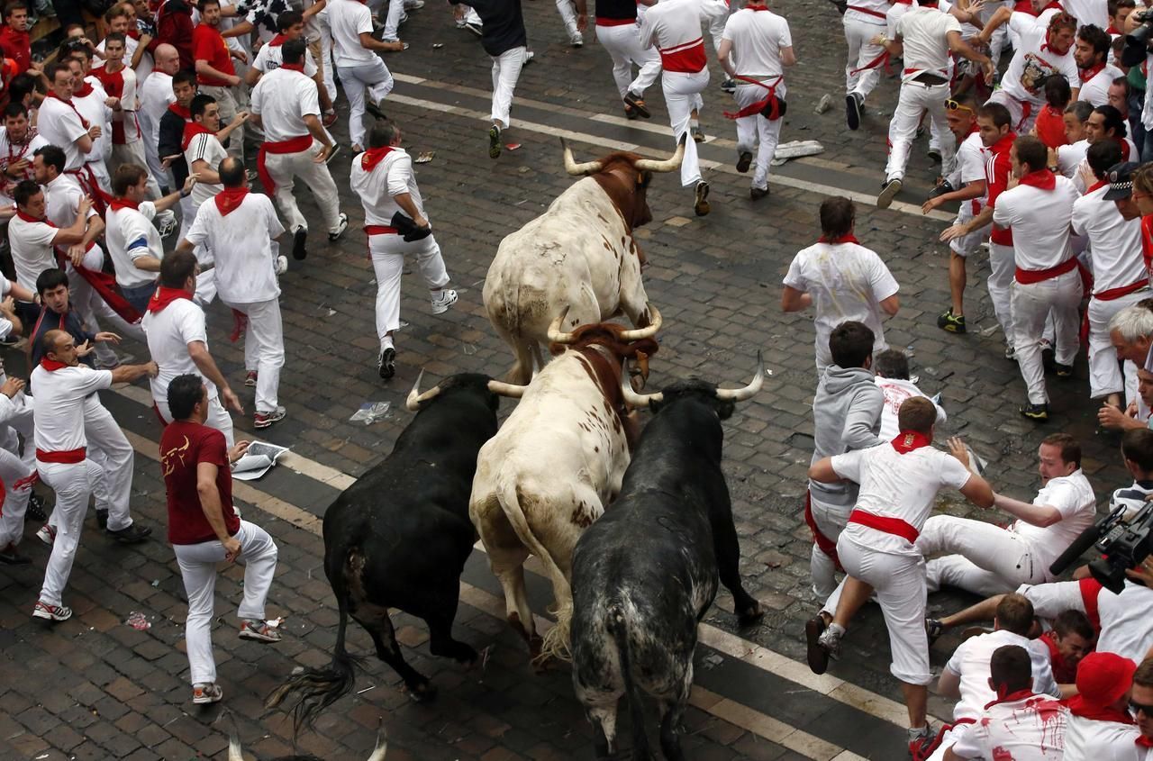
[[[37,366],[31,383],[36,389],[32,397],[36,449],[69,452],[88,446],[84,407],[90,394],[112,387],[112,372],[93,370],[86,364],[51,371]]]

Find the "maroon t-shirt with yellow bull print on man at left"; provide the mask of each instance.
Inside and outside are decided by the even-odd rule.
[[[201,423],[178,420],[160,435],[160,464],[168,495],[168,542],[172,544],[201,544],[219,538],[204,517],[196,489],[196,470],[201,462],[217,466],[216,485],[228,535],[235,536],[240,530],[240,518],[232,505],[232,469],[224,434]]]

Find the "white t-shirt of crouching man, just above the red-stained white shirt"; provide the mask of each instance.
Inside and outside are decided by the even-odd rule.
[[[1028,653],[1033,665],[1033,692],[1061,696],[1057,683],[1053,679],[1053,668],[1049,664],[1049,648],[1039,640],[1031,640],[1005,630],[988,634],[971,636],[954,650],[945,668],[960,677],[960,700],[952,709],[954,719],[977,718],[985,707],[997,699],[989,687],[989,663],[993,653],[1004,645],[1018,645]]]

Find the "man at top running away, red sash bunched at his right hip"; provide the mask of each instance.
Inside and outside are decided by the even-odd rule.
[[[797,63],[789,22],[769,10],[766,0],[751,0],[729,16],[717,51],[721,66],[737,81],[734,97],[739,111],[725,114],[737,120],[737,171],[748,172],[756,152],[756,168],[749,196],[769,195],[769,164],[777,150],[783,123],[784,67]]]

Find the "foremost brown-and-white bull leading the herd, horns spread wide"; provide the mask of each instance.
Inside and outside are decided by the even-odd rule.
[[[665,160],[610,153],[576,164],[564,145],[565,169],[583,176],[549,209],[500,241],[484,280],[484,309],[517,356],[507,379],[521,385],[544,364],[541,344],[565,308],[567,327],[624,312],[633,325],[651,321],[641,284],[643,254],[633,228],[653,219],[646,191],[654,172],[675,172],[684,144]]]

